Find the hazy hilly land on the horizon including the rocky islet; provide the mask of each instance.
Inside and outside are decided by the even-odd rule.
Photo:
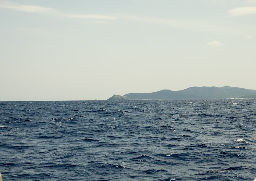
[[[134,99],[227,99],[256,98],[256,90],[224,87],[190,87],[184,90],[160,90],[152,93],[128,93],[123,96],[113,95],[107,100]]]

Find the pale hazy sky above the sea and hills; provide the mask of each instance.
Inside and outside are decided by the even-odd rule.
[[[0,101],[256,90],[256,0],[0,0]]]

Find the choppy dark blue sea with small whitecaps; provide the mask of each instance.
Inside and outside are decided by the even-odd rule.
[[[256,99],[1,101],[3,181],[252,181]]]

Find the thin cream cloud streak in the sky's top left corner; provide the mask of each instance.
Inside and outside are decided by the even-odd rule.
[[[23,4],[17,4],[17,3],[12,3],[12,2],[0,2],[0,8],[5,8],[5,9],[12,9],[12,10],[17,10],[17,11],[22,11],[22,12],[54,12],[56,11],[54,8],[45,8],[42,6],[31,6],[31,5],[23,5]]]

